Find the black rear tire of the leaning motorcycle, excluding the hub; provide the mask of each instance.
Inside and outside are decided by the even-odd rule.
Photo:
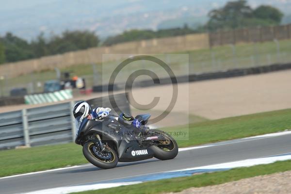
[[[170,141],[168,148],[162,148],[161,146],[151,146],[150,148],[154,151],[154,157],[159,160],[171,160],[178,155],[178,144],[173,137],[165,134],[162,130],[154,129],[153,132],[157,134],[163,134],[163,136]]]

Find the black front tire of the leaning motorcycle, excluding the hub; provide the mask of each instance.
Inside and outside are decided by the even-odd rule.
[[[94,146],[95,146],[94,142],[91,142],[91,141],[86,142],[83,145],[83,155],[85,156],[87,161],[103,169],[114,168],[117,165],[118,156],[112,146],[109,149],[110,155],[111,155],[111,158],[109,160],[104,160],[102,158],[99,158],[93,151]]]

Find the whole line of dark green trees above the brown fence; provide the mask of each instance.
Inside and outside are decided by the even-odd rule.
[[[158,31],[129,30],[108,37],[102,44],[100,44],[98,36],[94,32],[89,31],[65,31],[61,35],[53,35],[50,38],[45,38],[44,34],[41,33],[31,42],[8,32],[3,37],[0,37],[0,64],[97,46],[111,46],[129,41],[178,36],[197,32],[278,25],[281,23],[283,13],[269,5],[261,5],[253,9],[247,4],[246,0],[236,0],[227,2],[221,8],[211,10],[208,16],[208,22],[196,29],[191,29],[185,24],[182,28]]]

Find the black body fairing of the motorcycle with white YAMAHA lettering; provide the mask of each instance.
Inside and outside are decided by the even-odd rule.
[[[150,116],[150,115],[149,115]],[[143,118],[149,118],[147,115]],[[154,153],[150,146],[141,146],[133,135],[133,127],[121,125],[114,116],[108,116],[103,121],[84,119],[75,140],[83,145],[88,136],[99,134],[102,141],[112,141],[120,162],[140,161],[152,158]]]

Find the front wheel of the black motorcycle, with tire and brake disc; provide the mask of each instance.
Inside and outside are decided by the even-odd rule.
[[[83,145],[83,154],[87,161],[99,168],[114,168],[118,162],[117,154],[113,147],[108,145],[106,145],[106,150],[107,152],[101,151],[101,149],[91,141]]]

